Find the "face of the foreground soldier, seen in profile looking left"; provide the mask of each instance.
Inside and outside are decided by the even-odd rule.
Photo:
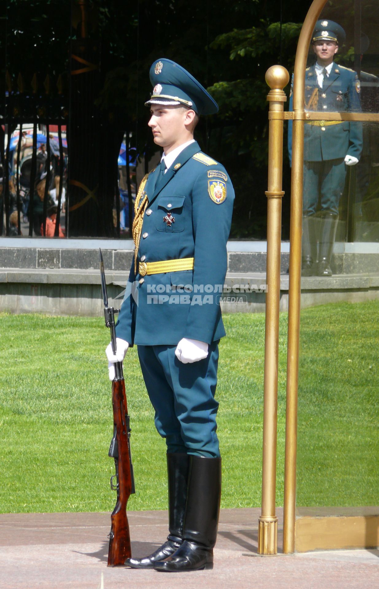
[[[150,114],[149,127],[153,131],[154,143],[163,147],[166,154],[183,143],[183,135],[186,134],[185,108],[151,104]]]

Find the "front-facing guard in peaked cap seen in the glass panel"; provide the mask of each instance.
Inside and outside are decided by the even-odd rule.
[[[361,110],[357,73],[335,64],[345,31],[336,22],[317,21],[312,48],[317,61],[305,72],[305,110],[357,112]],[[292,98],[289,104],[292,110]],[[362,125],[357,121],[305,121],[302,276],[332,276],[330,261],[338,223],[338,206],[347,166],[358,163]],[[292,127],[288,133],[292,148]],[[317,212],[321,199],[317,262]]]

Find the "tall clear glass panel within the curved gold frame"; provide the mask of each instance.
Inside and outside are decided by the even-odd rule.
[[[309,110],[379,111],[378,16],[364,0],[324,9]],[[373,122],[305,124],[298,506],[378,504],[378,133]]]

